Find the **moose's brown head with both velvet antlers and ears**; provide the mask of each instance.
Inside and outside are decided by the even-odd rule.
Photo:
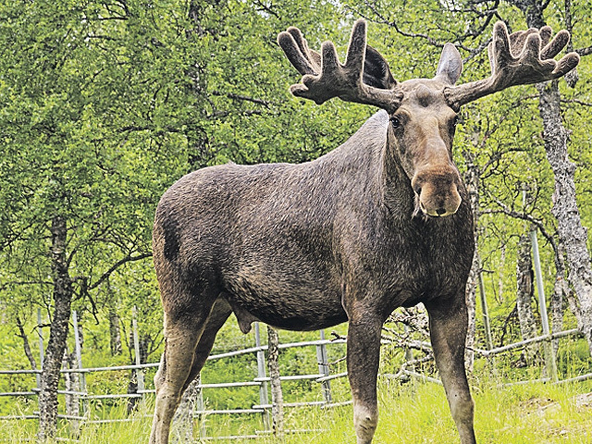
[[[452,162],[452,139],[456,115],[461,105],[513,85],[559,78],[579,62],[570,53],[556,62],[555,57],[568,43],[563,30],[551,40],[551,28],[529,29],[508,35],[506,25],[494,25],[488,46],[491,76],[455,86],[462,72],[456,47],[446,43],[436,75],[432,79],[397,82],[388,63],[366,44],[366,22],[353,26],[345,65],[339,63],[333,43],[325,41],[321,53],[310,50],[295,27],[279,34],[278,43],[289,61],[303,75],[292,85],[295,96],[317,104],[339,97],[349,102],[375,105],[390,116],[390,155],[410,180],[416,195],[416,211],[429,216],[456,213],[461,203],[458,169]]]

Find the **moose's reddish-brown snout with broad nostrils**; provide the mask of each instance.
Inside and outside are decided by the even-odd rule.
[[[455,169],[429,168],[418,171],[411,186],[416,194],[416,213],[432,217],[448,216],[456,213],[461,205],[458,184],[461,178]]]

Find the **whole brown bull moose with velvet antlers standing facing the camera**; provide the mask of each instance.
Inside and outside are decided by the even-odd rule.
[[[310,50],[298,28],[279,46],[303,75],[293,95],[317,104],[339,97],[381,108],[349,140],[312,162],[240,166],[185,175],[162,196],[153,253],[165,351],[155,377],[150,443],[168,442],[170,422],[216,333],[236,315],[288,330],[348,321],[347,366],[358,444],[378,423],[382,324],[422,302],[437,369],[463,444],[474,443],[474,403],[465,374],[465,285],[474,252],[468,194],[452,159],[459,108],[512,85],[559,78],[579,62],[554,57],[568,43],[549,27],[488,47],[491,76],[455,86],[461,56],[447,43],[432,79],[397,82],[353,26],[346,62],[330,41]]]

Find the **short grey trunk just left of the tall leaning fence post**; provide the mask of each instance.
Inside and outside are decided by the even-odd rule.
[[[523,340],[536,336],[535,316],[532,311],[532,300],[535,294],[533,277],[532,258],[530,258],[530,238],[527,234],[522,234],[518,244],[518,260],[516,265],[516,309]],[[538,350],[538,344],[529,344],[525,347],[520,358],[527,365],[530,365],[535,359]]]

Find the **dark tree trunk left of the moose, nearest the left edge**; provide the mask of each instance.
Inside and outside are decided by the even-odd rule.
[[[52,220],[52,279],[53,318],[49,330],[49,342],[41,371],[41,392],[39,394],[40,441],[56,435],[57,430],[57,386],[60,366],[66,348],[70,304],[72,303],[72,279],[66,260],[66,220],[56,216]]]

